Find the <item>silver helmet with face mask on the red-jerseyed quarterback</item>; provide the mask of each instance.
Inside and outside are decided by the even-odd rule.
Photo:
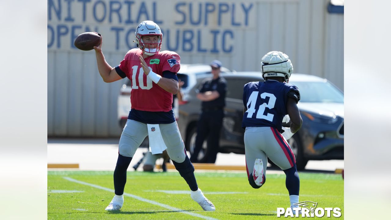
[[[157,47],[149,48],[146,47],[143,40],[141,39],[142,36],[153,36],[158,35],[158,43]],[[163,41],[163,34],[161,33],[159,25],[157,25],[155,22],[152,21],[143,21],[141,22],[135,32],[136,37],[136,43],[137,47],[140,48],[142,51],[144,51],[145,54],[148,56],[152,56],[153,54],[156,54],[161,49],[161,42]]]

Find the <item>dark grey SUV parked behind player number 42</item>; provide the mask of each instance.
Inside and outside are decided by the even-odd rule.
[[[227,81],[225,117],[220,135],[221,153],[244,154],[243,86],[251,81],[264,81],[260,72],[235,72],[221,74]],[[178,127],[185,146],[194,150],[197,121],[201,101],[195,90],[201,81],[211,75],[197,76],[197,83],[189,88],[185,104],[179,106]],[[298,103],[303,125],[288,140],[296,156],[298,170],[303,170],[308,160],[344,159],[344,95],[326,79],[305,74],[292,74],[289,83],[296,85],[301,94]],[[206,141],[199,153],[199,161],[205,161],[208,153]]]

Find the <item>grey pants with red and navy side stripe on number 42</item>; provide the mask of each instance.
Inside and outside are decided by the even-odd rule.
[[[244,132],[247,175],[254,169],[255,160],[262,159],[266,176],[267,157],[282,170],[294,166],[296,159],[291,146],[276,128],[247,127]]]

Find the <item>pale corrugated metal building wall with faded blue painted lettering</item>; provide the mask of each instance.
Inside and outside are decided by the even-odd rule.
[[[162,50],[175,49],[181,63],[219,59],[229,69],[259,71],[262,56],[279,50],[290,56],[294,72],[328,78],[343,89],[343,14],[329,14],[328,0],[84,4],[48,0],[48,136],[120,135],[117,97],[124,80],[104,83],[95,52],[75,49],[73,39],[100,32],[114,67],[135,47],[134,29],[147,19],[161,22]]]

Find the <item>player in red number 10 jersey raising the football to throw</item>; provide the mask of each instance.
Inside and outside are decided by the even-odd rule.
[[[127,52],[117,67],[111,67],[102,52],[102,42],[94,47],[99,74],[106,83],[129,78],[132,83],[131,111],[122,131],[114,171],[115,196],[105,210],[119,210],[124,203],[126,171],[146,136],[152,154],[167,153],[176,170],[189,185],[190,197],[206,211],[215,206],[197,186],[194,166],[186,155],[172,111],[172,94],[178,92],[180,57],[176,52],[160,51],[163,34],[152,21],[143,21],[135,32],[137,47]]]

